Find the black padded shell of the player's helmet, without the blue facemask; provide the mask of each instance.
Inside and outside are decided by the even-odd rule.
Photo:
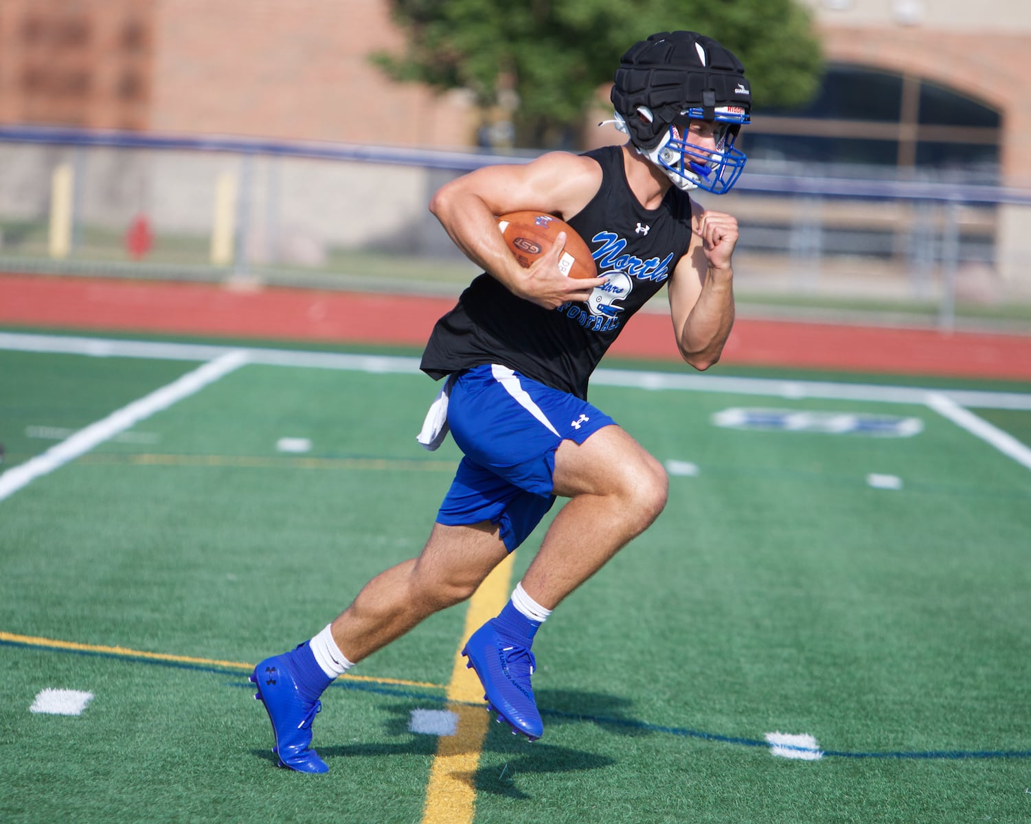
[[[712,120],[718,107],[747,114],[752,105],[741,62],[711,37],[686,31],[653,34],[627,50],[611,100],[631,140],[642,149],[656,146],[689,109]]]

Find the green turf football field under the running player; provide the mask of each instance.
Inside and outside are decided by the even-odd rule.
[[[246,678],[421,548],[435,387],[231,352],[0,335],[0,821],[423,818],[464,607],[328,691],[328,776],[275,768]],[[544,737],[491,725],[477,824],[1031,821],[1031,387],[804,377],[599,373],[670,501],[538,634]]]

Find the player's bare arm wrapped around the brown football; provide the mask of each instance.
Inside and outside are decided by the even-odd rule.
[[[564,234],[546,255],[524,269],[498,231],[496,217],[540,209],[567,220],[598,190],[601,169],[588,158],[554,152],[526,165],[488,166],[445,184],[430,201],[430,211],[471,261],[513,294],[547,309],[587,300],[604,278],[575,279],[559,271]]]

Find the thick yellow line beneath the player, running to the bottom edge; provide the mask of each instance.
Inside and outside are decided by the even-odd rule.
[[[504,606],[514,555],[509,553],[494,568],[469,601],[463,645]],[[447,700],[454,702],[448,703],[448,708],[458,716],[458,730],[454,735],[441,735],[437,739],[437,752],[426,788],[423,824],[469,824],[475,813],[476,768],[491,717],[483,703],[484,688],[476,674],[466,668],[461,649],[462,645],[455,652],[451,684],[447,685]]]

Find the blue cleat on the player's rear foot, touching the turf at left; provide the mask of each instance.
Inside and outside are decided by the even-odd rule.
[[[272,722],[272,753],[279,757],[279,766],[298,772],[328,772],[326,762],[311,749],[311,722],[322,710],[322,701],[301,697],[289,656],[266,658],[250,680],[258,688],[255,698],[265,704]]]

